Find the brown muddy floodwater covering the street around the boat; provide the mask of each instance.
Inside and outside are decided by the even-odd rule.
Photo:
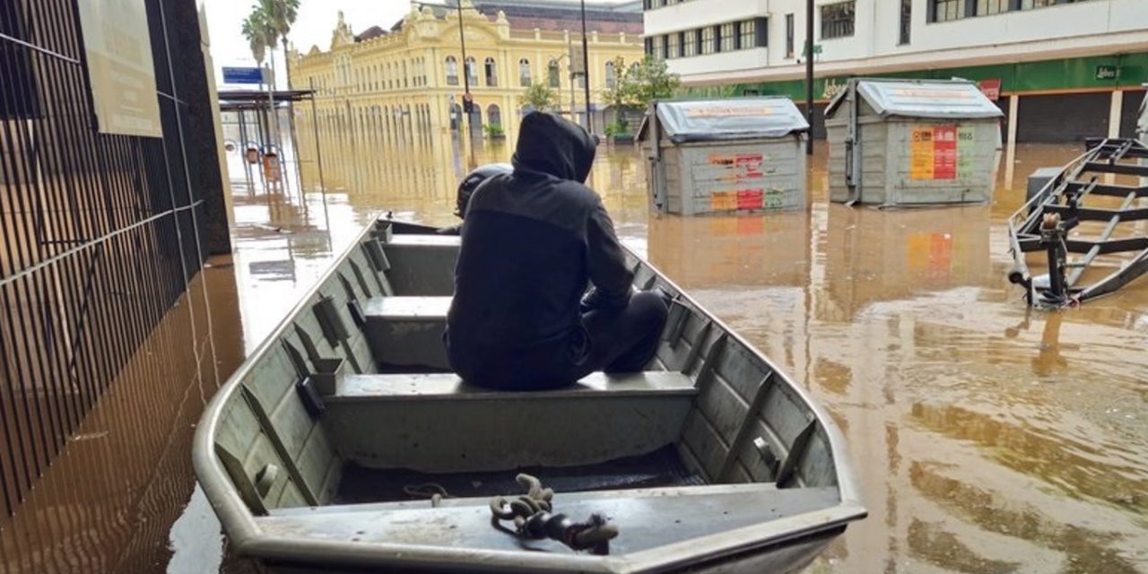
[[[623,241],[840,425],[870,514],[809,572],[1148,572],[1148,279],[1041,312],[1004,278],[1024,177],[1079,149],[1022,147],[991,205],[877,211],[827,202],[819,148],[794,212],[650,215],[628,147],[603,146],[590,180]],[[250,571],[224,558],[192,476],[207,400],[373,214],[451,223],[458,177],[509,154],[324,141],[325,194],[294,177],[286,194],[249,187],[230,157],[236,253],[211,261],[0,522],[0,573]],[[301,171],[317,189],[318,165]]]

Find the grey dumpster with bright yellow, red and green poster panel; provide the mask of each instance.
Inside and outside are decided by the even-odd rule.
[[[853,79],[825,108],[830,200],[987,202],[1002,116],[971,82]]]

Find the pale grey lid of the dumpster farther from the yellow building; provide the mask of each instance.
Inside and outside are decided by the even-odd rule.
[[[1004,114],[972,82],[854,79],[858,93],[881,117],[983,118]],[[837,113],[848,96],[843,90],[825,109],[825,116]]]

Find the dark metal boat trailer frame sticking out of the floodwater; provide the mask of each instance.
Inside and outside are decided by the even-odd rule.
[[[1148,199],[1148,146],[1135,139],[1089,139],[1086,146],[1085,154],[1053,177],[1008,220],[1015,259],[1008,278],[1025,287],[1025,298],[1033,307],[1073,307],[1148,273],[1148,235],[1128,233],[1134,231],[1134,222],[1148,220],[1148,207],[1137,201]],[[1116,185],[1101,180],[1107,174],[1141,179],[1138,185]],[[1118,208],[1096,207],[1103,201],[1097,197],[1122,201]],[[1100,234],[1085,239],[1070,233],[1085,222],[1102,224]],[[1029,272],[1026,254],[1033,251],[1046,254],[1047,274],[1032,277]],[[1117,270],[1083,285],[1097,257],[1109,255],[1120,258]]]

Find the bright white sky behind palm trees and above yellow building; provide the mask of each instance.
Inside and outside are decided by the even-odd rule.
[[[254,67],[255,59],[240,33],[243,18],[251,11],[254,0],[200,0],[208,16],[208,34],[211,39],[211,57],[216,67],[216,82],[220,90],[248,86],[223,84],[223,67]],[[437,1],[437,0],[430,0]],[[588,3],[614,3],[618,0],[587,0]],[[326,51],[331,47],[331,33],[343,11],[351,31],[359,33],[379,25],[390,28],[411,9],[409,0],[300,0],[298,18],[292,28],[288,40],[300,52],[307,53],[311,46]],[[276,51],[276,69],[280,76],[284,69],[282,49]],[[280,88],[286,79],[278,78]]]

